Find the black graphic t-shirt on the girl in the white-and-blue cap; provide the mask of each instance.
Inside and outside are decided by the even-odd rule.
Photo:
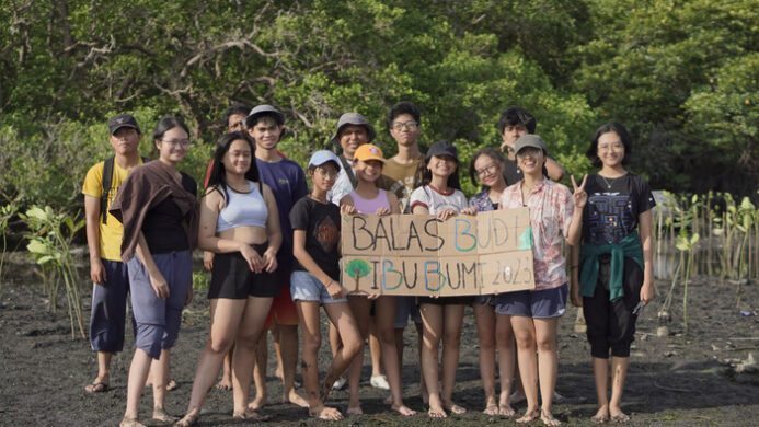
[[[340,208],[332,203],[321,204],[303,197],[290,210],[292,230],[306,231],[306,252],[333,280],[340,280]],[[306,268],[295,261],[294,268]]]

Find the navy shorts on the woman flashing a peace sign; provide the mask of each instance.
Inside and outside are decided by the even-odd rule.
[[[552,289],[501,293],[496,299],[495,312],[532,319],[560,318],[566,312],[568,293],[566,284]]]

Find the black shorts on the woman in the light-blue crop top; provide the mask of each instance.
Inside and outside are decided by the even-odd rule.
[[[258,255],[263,255],[267,247],[268,243],[253,245]],[[251,272],[251,267],[240,252],[216,254],[208,299],[273,298],[279,293],[281,284],[278,269],[274,273]]]

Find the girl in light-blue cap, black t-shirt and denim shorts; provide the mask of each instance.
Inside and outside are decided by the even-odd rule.
[[[313,181],[311,194],[298,200],[290,210],[292,254],[296,258],[290,276],[290,295],[298,310],[302,336],[302,376],[308,392],[309,414],[319,419],[338,420],[343,414],[325,406],[332,385],[345,372],[364,346],[356,318],[350,311],[347,291],[340,284],[341,208],[330,203],[327,192],[340,173],[340,159],[327,150],[313,153],[308,175]],[[343,346],[335,351],[319,386],[319,349],[324,307],[337,328]]]

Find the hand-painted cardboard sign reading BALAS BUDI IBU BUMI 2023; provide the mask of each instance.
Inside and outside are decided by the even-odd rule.
[[[343,216],[342,284],[352,292],[474,296],[534,289],[527,208],[456,216]]]

